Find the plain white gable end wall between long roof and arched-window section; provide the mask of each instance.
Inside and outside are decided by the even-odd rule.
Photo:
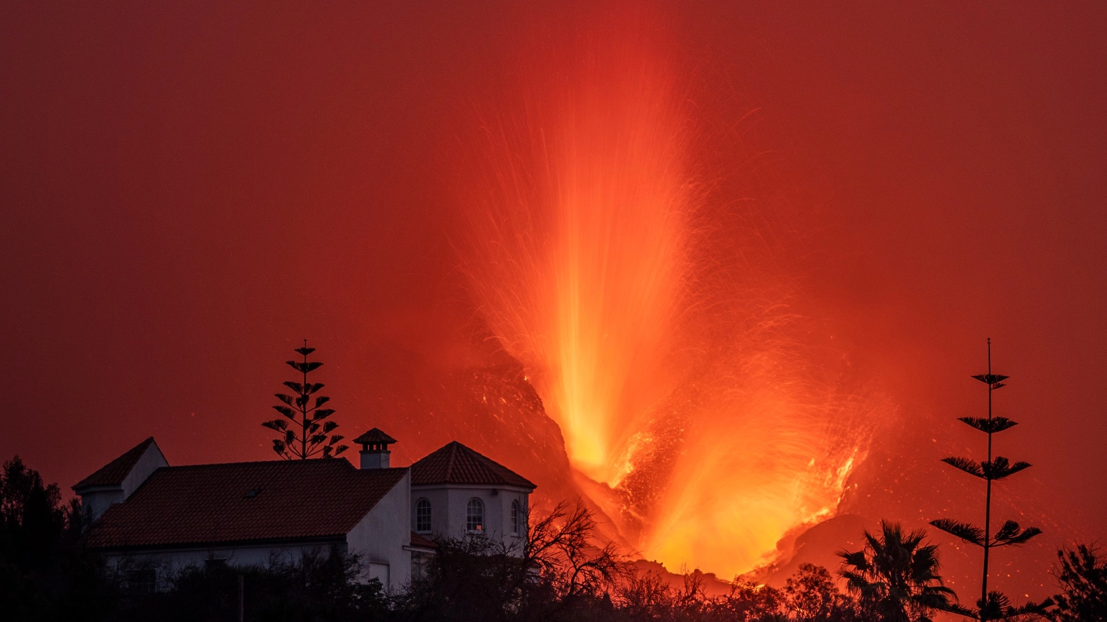
[[[361,557],[365,579],[399,592],[411,581],[411,471],[396,483],[346,535],[348,550]]]

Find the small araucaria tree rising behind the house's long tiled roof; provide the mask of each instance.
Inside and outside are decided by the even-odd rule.
[[[349,448],[346,445],[337,445],[342,440],[342,435],[331,434],[339,424],[324,421],[334,411],[322,407],[330,397],[315,395],[323,384],[308,382],[308,374],[322,366],[319,361],[308,361],[308,354],[314,351],[314,348],[308,348],[308,340],[303,340],[303,348],[296,349],[298,354],[303,355],[303,361],[288,361],[288,364],[300,372],[302,380],[284,383],[284,386],[292,390],[292,395],[277,394],[281,403],[273,406],[273,410],[284,418],[261,424],[280,434],[279,438],[273,438],[273,452],[286,459],[330,458]]]

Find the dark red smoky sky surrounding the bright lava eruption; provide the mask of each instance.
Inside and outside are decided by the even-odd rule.
[[[370,344],[449,357],[459,137],[525,80],[525,33],[573,45],[594,15],[386,4],[0,8],[0,457],[63,487],[152,434],[173,464],[268,459],[300,339],[351,432]],[[991,336],[1004,453],[1036,465],[1004,487],[1051,543],[1103,538],[1107,9],[745,4],[656,20],[720,118],[756,108],[811,214],[805,309],[900,408],[871,460],[920,466],[858,507],[945,507]]]

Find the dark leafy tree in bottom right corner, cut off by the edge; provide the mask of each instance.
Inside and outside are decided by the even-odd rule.
[[[1063,591],[1053,597],[1057,607],[1049,613],[1051,620],[1107,620],[1107,560],[1097,553],[1087,545],[1057,551],[1061,566],[1056,576]]]

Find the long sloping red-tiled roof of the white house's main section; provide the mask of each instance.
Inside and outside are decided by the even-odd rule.
[[[93,548],[345,536],[407,473],[344,459],[163,467],[89,533]]]

